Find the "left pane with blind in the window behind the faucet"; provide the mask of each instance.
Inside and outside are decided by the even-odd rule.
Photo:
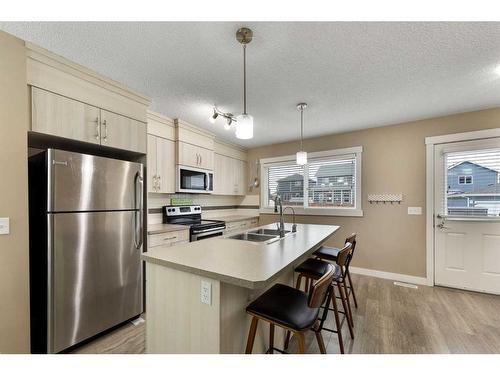
[[[270,166],[267,169],[268,206],[273,206],[272,198],[279,194],[283,205],[302,206],[304,204],[304,167],[296,164]]]

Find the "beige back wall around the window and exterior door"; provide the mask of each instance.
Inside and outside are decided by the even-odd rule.
[[[425,144],[427,136],[497,128],[500,108],[372,128],[308,139],[306,151],[363,146],[363,217],[301,216],[299,222],[336,224],[342,228],[328,245],[339,246],[351,232],[358,233],[353,265],[368,269],[425,277]],[[290,155],[298,142],[264,146],[249,151],[256,158]],[[254,178],[255,171],[249,171]],[[258,189],[256,189],[258,190]],[[401,205],[369,204],[369,193],[403,193]],[[258,194],[258,192],[255,192]],[[420,206],[421,216],[409,216],[408,206]],[[263,223],[272,215],[262,215]]]

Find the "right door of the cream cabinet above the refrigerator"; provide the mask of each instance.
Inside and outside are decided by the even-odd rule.
[[[101,110],[101,145],[145,154],[146,124]]]

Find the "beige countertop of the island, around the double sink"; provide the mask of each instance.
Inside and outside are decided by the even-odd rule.
[[[275,227],[269,224],[260,228]],[[291,225],[285,224],[285,229],[290,230]],[[335,225],[297,224],[296,233],[270,244],[214,237],[173,247],[155,247],[143,253],[142,259],[225,283],[260,289],[290,266],[302,262],[338,229]]]

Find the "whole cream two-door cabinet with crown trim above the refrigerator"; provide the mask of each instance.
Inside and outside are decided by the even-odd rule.
[[[151,101],[32,43],[26,43],[31,130],[146,153]]]

